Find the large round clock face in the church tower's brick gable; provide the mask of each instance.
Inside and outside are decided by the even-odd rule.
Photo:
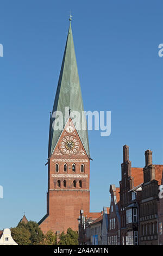
[[[79,151],[79,140],[74,136],[65,136],[60,142],[60,150],[67,155],[76,154]]]

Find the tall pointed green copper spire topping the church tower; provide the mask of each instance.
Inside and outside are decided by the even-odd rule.
[[[68,29],[66,47],[64,52],[64,57],[62,60],[60,76],[58,81],[57,93],[55,95],[53,112],[61,111],[64,116],[65,121],[65,107],[69,107],[72,111],[78,111],[80,117],[82,117],[83,100],[82,93],[80,89],[76,54],[74,51],[73,36],[71,29],[71,16],[70,16],[70,27]],[[68,118],[67,118],[68,119]],[[51,129],[49,132],[49,156],[53,153],[58,139],[62,133],[61,130],[53,130],[52,123],[54,118],[51,118]],[[65,126],[65,124],[63,125]],[[64,127],[63,127],[64,129]],[[87,130],[78,130],[78,135],[83,143],[84,149],[88,156],[89,152],[89,140],[87,135]]]

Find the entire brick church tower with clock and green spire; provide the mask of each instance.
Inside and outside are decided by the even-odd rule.
[[[65,109],[67,109],[66,112]],[[75,111],[76,115],[73,114]],[[78,230],[77,219],[80,209],[84,212],[90,210],[90,152],[86,119],[83,113],[70,18],[50,118],[47,214],[39,222],[43,233],[51,229],[60,234],[62,231],[66,232],[69,227]],[[79,120],[82,120],[83,126],[79,125]],[[60,127],[61,129],[58,129]]]

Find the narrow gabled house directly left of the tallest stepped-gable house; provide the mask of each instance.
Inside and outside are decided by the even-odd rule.
[[[108,226],[108,245],[120,245],[120,188],[110,185],[110,214]]]

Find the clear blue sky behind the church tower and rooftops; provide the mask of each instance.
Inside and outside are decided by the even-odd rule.
[[[161,0],[1,0],[0,229],[46,214],[49,111],[52,111],[72,11],[84,108],[111,111],[111,135],[89,131],[90,210],[110,204],[122,147],[133,167],[144,152],[163,164]]]

